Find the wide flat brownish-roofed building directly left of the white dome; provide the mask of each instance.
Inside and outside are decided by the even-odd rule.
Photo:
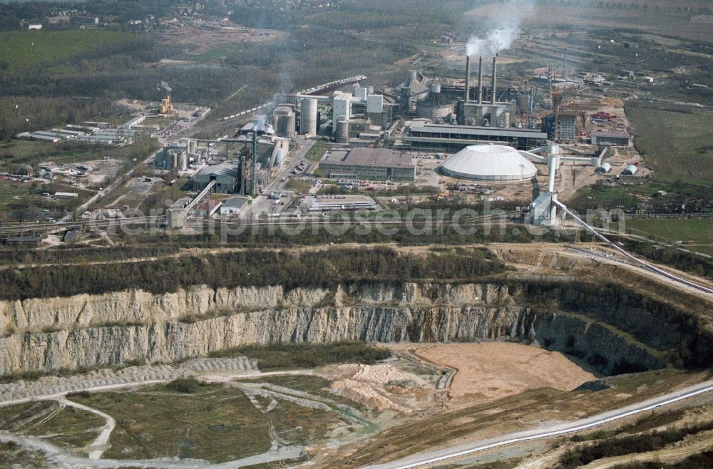
[[[416,168],[410,155],[386,148],[353,148],[328,152],[319,161],[326,177],[355,180],[414,182]]]

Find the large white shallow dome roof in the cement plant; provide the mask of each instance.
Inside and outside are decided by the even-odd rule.
[[[463,179],[516,182],[531,179],[537,168],[518,150],[503,145],[471,145],[448,158],[443,174]]]

